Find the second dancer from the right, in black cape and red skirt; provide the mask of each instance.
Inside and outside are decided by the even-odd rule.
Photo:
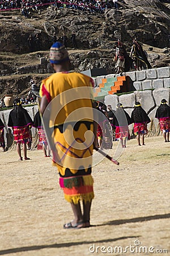
[[[138,101],[135,102],[134,110],[131,112],[131,119],[134,123],[133,129],[134,134],[137,135],[138,146],[141,146],[140,137],[142,137],[142,145],[145,145],[145,134],[148,133],[147,123],[151,120]]]

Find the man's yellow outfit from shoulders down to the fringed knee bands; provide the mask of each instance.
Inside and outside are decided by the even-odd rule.
[[[59,72],[43,80],[40,88],[41,97],[45,95],[49,101],[45,112],[49,116],[49,127],[54,127],[53,161],[57,165],[60,179],[67,179],[68,183],[68,178],[86,176],[86,185],[84,183],[83,190],[82,186],[78,188],[76,195],[73,188],[68,192],[68,188],[62,187],[66,200],[74,203],[80,197],[85,201],[94,197],[91,177],[94,141],[92,85],[91,77],[81,73]]]

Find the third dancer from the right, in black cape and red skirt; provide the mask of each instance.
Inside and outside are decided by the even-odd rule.
[[[124,110],[121,103],[117,104],[117,110],[114,113],[113,125],[116,126],[115,137],[119,139],[121,147],[126,147],[129,139],[129,125],[133,123],[129,114]]]

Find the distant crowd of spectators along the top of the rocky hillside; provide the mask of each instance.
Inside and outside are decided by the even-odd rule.
[[[0,10],[20,9],[27,18],[29,18],[30,11],[37,11],[42,6],[48,5],[54,5],[59,9],[70,8],[99,13],[114,6],[112,0],[111,2],[108,0],[0,0],[0,3]]]

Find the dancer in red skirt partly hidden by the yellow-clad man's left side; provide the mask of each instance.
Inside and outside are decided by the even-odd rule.
[[[50,157],[50,150],[48,148],[48,143],[45,137],[45,131],[41,123],[40,112],[38,111],[33,119],[33,127],[36,127],[39,135],[39,144],[42,145],[42,150],[44,152],[45,158]],[[48,154],[46,151],[48,150]]]

